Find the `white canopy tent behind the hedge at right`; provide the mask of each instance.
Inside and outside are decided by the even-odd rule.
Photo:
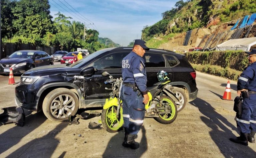
[[[229,39],[219,45],[216,50],[243,50],[249,51],[256,48],[256,37],[244,39]]]

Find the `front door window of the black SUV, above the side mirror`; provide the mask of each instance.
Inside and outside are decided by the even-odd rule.
[[[118,69],[122,68],[122,59],[129,52],[116,52],[106,55],[93,63],[96,69]]]

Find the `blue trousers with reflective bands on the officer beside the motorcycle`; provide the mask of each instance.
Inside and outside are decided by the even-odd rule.
[[[138,91],[124,86],[121,90],[121,99],[123,103],[124,128],[127,134],[137,134],[143,124],[145,115],[145,105],[142,95],[138,96]]]

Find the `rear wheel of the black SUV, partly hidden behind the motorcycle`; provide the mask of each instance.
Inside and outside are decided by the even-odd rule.
[[[173,91],[175,92],[174,95],[179,99],[179,102],[175,102],[177,106],[178,112],[182,111],[186,104],[187,104],[187,97],[184,92],[184,89],[178,88],[178,87],[173,87]]]

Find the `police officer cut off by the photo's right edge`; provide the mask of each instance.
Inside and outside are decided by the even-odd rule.
[[[255,142],[256,133],[256,49],[248,54],[250,65],[243,71],[237,82],[237,95],[242,94],[242,114],[236,117],[237,129],[240,136],[229,140],[248,145]]]

